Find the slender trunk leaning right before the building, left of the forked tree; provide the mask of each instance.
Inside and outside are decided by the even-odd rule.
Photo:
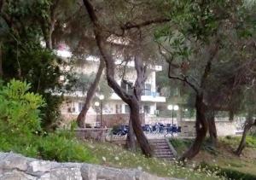
[[[98,67],[98,71],[96,73],[96,78],[94,79],[93,83],[90,84],[90,88],[87,91],[86,94],[86,99],[85,99],[85,103],[84,103],[84,107],[82,108],[81,112],[79,113],[79,116],[77,118],[77,123],[79,125],[80,128],[84,128],[84,123],[85,123],[85,117],[86,117],[86,113],[88,112],[89,108],[90,108],[90,102],[96,92],[96,88],[100,82],[100,79],[102,77],[102,72],[103,69],[105,67],[105,63],[104,61],[100,61],[100,65]]]

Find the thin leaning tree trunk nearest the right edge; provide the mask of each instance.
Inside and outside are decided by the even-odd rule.
[[[248,117],[242,132],[241,142],[235,152],[236,155],[241,155],[242,150],[246,147],[247,133],[253,127],[253,125],[256,125],[256,120],[254,120],[253,122],[253,119],[251,119],[251,117]]]

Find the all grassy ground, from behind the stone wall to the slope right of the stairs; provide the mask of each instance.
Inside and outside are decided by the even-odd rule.
[[[219,139],[216,149],[209,148],[206,141],[195,161],[181,166],[177,161],[167,162],[154,158],[145,158],[143,154],[131,153],[123,147],[108,142],[79,141],[73,133],[56,131],[48,135],[10,136],[0,134],[0,150],[13,151],[43,160],[86,162],[97,165],[106,165],[117,168],[135,168],[148,171],[159,177],[177,177],[183,179],[221,179],[218,176],[228,173],[235,176],[237,171],[255,175],[256,154],[255,137],[248,136],[248,146],[244,150],[248,157],[237,157],[232,154],[232,147],[239,142],[238,137],[226,137]],[[192,139],[171,139],[172,145],[182,154],[193,142]],[[214,152],[214,153],[212,153]],[[254,158],[252,158],[254,154]],[[200,166],[218,165],[221,169],[212,171],[212,168]],[[225,168],[225,169],[224,169]]]

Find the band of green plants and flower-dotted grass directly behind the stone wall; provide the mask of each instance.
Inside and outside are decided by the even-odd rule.
[[[0,134],[0,151],[24,154],[28,157],[86,162],[117,168],[135,168],[148,171],[159,177],[180,177],[183,179],[219,179],[215,172],[183,167],[173,161],[145,158],[143,154],[131,153],[112,143],[81,142],[67,132],[55,132],[46,136],[7,136]]]

